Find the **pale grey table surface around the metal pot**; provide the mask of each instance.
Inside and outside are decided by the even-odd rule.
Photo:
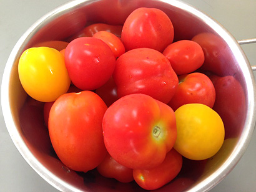
[[[219,21],[235,39],[256,37],[255,0],[184,1]],[[7,58],[19,37],[37,19],[65,2],[67,0],[0,0],[1,80]],[[256,65],[256,44],[245,45],[242,48],[250,63]],[[0,113],[0,191],[57,191],[37,175],[19,154],[7,132],[2,111]],[[256,191],[256,131],[234,170],[211,191]]]

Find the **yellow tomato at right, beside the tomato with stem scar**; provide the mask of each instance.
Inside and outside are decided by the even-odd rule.
[[[224,142],[225,130],[217,112],[207,105],[191,103],[175,111],[177,140],[174,148],[190,160],[215,155]]]

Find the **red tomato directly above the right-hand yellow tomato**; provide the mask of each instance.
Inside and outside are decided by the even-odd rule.
[[[173,110],[188,103],[202,103],[212,108],[215,95],[214,84],[207,75],[198,72],[180,75],[179,86],[168,105]]]

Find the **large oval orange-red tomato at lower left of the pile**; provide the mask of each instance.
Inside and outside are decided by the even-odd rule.
[[[107,106],[91,91],[57,98],[49,114],[49,135],[59,159],[74,171],[96,168],[106,156],[102,118]]]

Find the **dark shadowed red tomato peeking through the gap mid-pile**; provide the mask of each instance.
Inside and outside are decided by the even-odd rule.
[[[117,87],[113,77],[111,77],[106,84],[102,85],[102,87],[96,89],[95,92],[102,98],[102,100],[104,100],[107,107],[111,106],[112,103],[118,99]]]

